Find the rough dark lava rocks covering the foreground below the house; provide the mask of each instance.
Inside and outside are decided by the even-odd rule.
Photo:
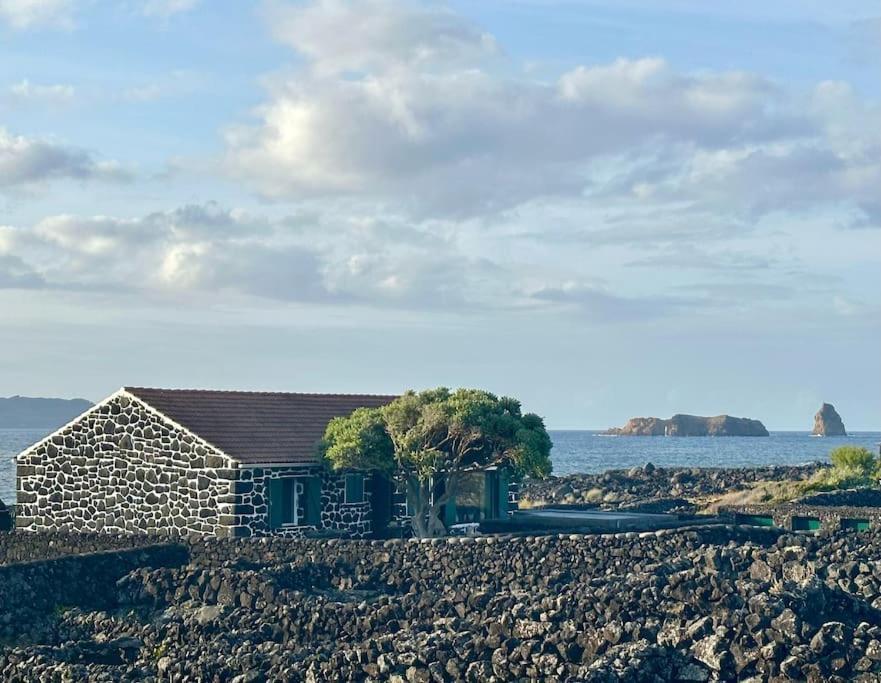
[[[0,680],[881,676],[874,532],[707,527],[431,543],[213,540],[186,550],[181,566],[122,575],[103,609],[58,605],[24,619],[24,604],[15,620],[0,619]]]

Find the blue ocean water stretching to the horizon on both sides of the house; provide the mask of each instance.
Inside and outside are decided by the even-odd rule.
[[[46,430],[0,429],[0,500],[15,499],[12,457],[39,441]],[[854,432],[846,437],[814,438],[809,432],[771,432],[769,437],[603,436],[596,431],[550,432],[554,441],[554,474],[601,472],[647,462],[658,467],[751,467],[798,465],[825,460],[843,444],[878,452],[881,432]]]

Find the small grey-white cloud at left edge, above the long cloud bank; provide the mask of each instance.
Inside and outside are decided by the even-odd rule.
[[[0,127],[0,190],[58,178],[124,181],[130,174],[117,162],[97,160],[85,150],[16,136]]]

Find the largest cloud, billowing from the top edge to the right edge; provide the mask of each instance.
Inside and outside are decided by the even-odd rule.
[[[225,133],[227,170],[268,198],[440,218],[614,196],[755,220],[862,205],[878,176],[874,111],[841,84],[798,93],[653,56],[538,81],[497,68],[495,41],[434,5],[276,2],[268,14],[304,62],[267,78],[254,120]],[[845,117],[859,125],[844,130]]]

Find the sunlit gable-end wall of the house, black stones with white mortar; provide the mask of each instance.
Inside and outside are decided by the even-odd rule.
[[[27,531],[221,533],[233,463],[142,402],[121,394],[18,461]]]

